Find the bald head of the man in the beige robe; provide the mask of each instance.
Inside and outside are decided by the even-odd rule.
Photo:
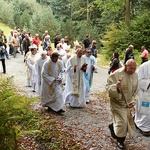
[[[136,70],[136,61],[134,59],[129,59],[125,64],[125,71],[132,75]]]

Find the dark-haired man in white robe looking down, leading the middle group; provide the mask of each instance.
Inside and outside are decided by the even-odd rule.
[[[41,103],[55,112],[64,112],[64,99],[61,81],[63,67],[58,60],[59,54],[53,52],[51,58],[42,67]]]

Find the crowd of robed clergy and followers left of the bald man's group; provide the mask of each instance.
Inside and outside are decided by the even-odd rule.
[[[11,55],[17,58],[18,52],[24,55],[26,86],[41,96],[43,107],[62,113],[65,104],[84,107],[89,102],[97,57],[96,41],[91,43],[89,35],[82,44],[75,41],[72,51],[68,37],[61,38],[60,34],[56,34],[53,48],[47,30],[41,40],[39,34],[34,37],[26,31],[21,34],[19,28],[1,39],[1,46],[4,49],[8,46],[4,58]],[[2,64],[6,73],[5,62]]]

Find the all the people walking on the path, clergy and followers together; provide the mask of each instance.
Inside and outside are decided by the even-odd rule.
[[[26,31],[21,34],[20,29],[11,30],[8,38],[1,31],[0,60],[6,73],[5,58],[10,55],[16,58],[18,52],[24,55],[26,86],[41,97],[43,107],[64,113],[65,105],[84,107],[90,101],[93,73],[97,73],[96,46],[96,40],[91,42],[88,34],[82,44],[74,41],[71,50],[68,37],[61,38],[59,34],[54,38],[53,49],[47,30],[41,40],[38,34],[34,37]],[[142,62],[136,72],[133,50],[133,45],[126,49],[124,65],[119,54],[113,53],[106,85],[112,111],[109,129],[119,149],[125,149],[127,133],[133,137],[134,125],[142,135],[150,136],[150,61],[142,46]]]

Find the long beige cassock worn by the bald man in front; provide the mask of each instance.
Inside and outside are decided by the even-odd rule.
[[[121,90],[118,91],[116,83],[121,80]],[[125,137],[127,132],[133,137],[133,117],[129,104],[135,105],[137,99],[138,75],[129,75],[122,67],[112,73],[108,80],[106,89],[110,97],[110,109],[112,111],[114,132],[118,137]]]

